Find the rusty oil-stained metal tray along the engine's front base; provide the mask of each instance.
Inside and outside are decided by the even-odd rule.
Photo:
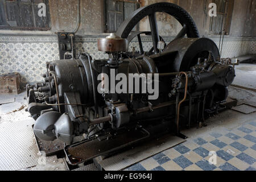
[[[64,151],[67,155],[68,162],[72,165],[80,164],[97,156],[126,147],[129,144],[149,137],[146,130],[130,130],[121,133],[117,137],[108,140],[89,139],[70,146],[65,146]]]

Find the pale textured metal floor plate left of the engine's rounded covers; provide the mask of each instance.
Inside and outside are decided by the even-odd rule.
[[[31,125],[34,119],[4,122],[0,125],[0,170],[18,170],[38,164]]]

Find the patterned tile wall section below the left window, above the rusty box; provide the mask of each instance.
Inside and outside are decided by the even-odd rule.
[[[0,36],[0,75],[19,72],[23,85],[41,81],[46,61],[58,58],[56,36]]]

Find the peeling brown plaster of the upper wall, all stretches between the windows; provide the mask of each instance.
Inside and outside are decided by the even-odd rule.
[[[101,34],[104,32],[104,1],[80,0],[80,28],[78,35]],[[139,0],[141,6],[156,2],[171,2],[183,7],[195,20],[201,36],[209,36],[209,3],[213,0]],[[51,31],[73,31],[77,24],[79,0],[49,0]],[[256,1],[234,0],[229,36],[256,36]],[[175,36],[181,26],[175,18],[164,13],[156,15],[159,33],[162,36]],[[139,24],[141,31],[150,30],[147,18]]]

